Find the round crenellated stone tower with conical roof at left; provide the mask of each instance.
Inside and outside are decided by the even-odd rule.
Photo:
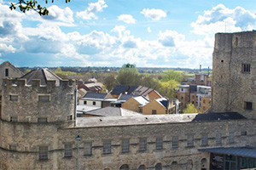
[[[0,147],[6,151],[1,152],[0,169],[13,169],[10,165],[21,169],[34,167],[29,160],[40,150],[38,146],[57,144],[58,128],[73,127],[74,90],[73,81],[62,80],[48,69],[3,79]],[[19,154],[22,152],[26,158]],[[15,165],[10,156],[20,160],[20,165]]]

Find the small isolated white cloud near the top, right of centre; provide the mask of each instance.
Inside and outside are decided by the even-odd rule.
[[[166,18],[166,12],[158,8],[143,8],[141,14],[151,20],[160,20],[161,18]]]

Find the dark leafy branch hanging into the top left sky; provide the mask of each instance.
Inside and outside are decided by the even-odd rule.
[[[48,0],[44,0],[45,3],[48,3]],[[54,3],[54,0],[51,0],[51,3]],[[66,0],[66,3],[70,3],[70,0]],[[20,11],[26,13],[26,11],[34,10],[40,15],[48,15],[49,11],[46,7],[41,7],[41,5],[36,0],[18,0],[17,3],[11,3],[10,9],[15,10],[20,8]]]

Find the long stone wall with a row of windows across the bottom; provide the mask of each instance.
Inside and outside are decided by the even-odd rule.
[[[199,148],[220,146],[255,145],[256,127],[253,120],[180,122],[131,126],[68,127],[59,128],[55,123],[1,122],[1,167],[7,169],[76,169],[77,139],[79,144],[80,169],[119,169],[127,164],[130,169],[145,165],[154,169],[161,163],[163,169],[200,169],[201,160],[207,153]],[[42,131],[44,129],[44,131]],[[239,129],[239,130],[238,130]],[[235,143],[229,143],[229,133],[235,133]],[[247,132],[242,136],[241,132]],[[207,133],[207,145],[201,145],[201,134]],[[222,144],[216,145],[216,133],[222,133]],[[187,146],[187,135],[194,135],[194,146]],[[178,147],[172,149],[172,136],[178,136]],[[139,151],[139,139],[147,139],[147,150]],[[156,138],[163,139],[163,149],[156,150]],[[4,139],[4,140],[3,140]],[[123,139],[130,139],[130,151],[121,152]],[[103,141],[111,141],[111,153],[102,153]],[[84,142],[92,142],[92,155],[84,156]],[[73,156],[64,157],[64,144],[73,144]],[[9,150],[9,144],[16,145],[16,151]],[[49,159],[38,160],[38,147],[48,146]],[[192,161],[192,165],[191,165]]]

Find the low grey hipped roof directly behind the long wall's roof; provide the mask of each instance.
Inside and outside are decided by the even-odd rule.
[[[123,108],[110,107],[110,106],[96,109],[94,111],[87,111],[86,114],[93,115],[93,116],[141,116],[142,115],[134,111],[128,111]]]

